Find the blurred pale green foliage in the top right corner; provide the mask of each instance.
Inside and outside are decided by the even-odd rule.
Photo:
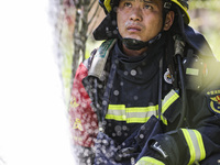
[[[190,26],[201,32],[220,59],[220,0],[190,0]]]

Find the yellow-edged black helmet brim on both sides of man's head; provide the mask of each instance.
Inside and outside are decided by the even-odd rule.
[[[182,11],[182,15],[184,18],[184,22],[186,24],[189,24],[190,22],[190,18],[189,14],[187,12],[188,10],[188,0],[164,0],[164,8],[169,8],[168,2],[172,2],[174,4],[176,4],[177,7],[180,8]],[[119,3],[119,0],[99,0],[100,6],[103,8],[106,13],[109,13],[112,11],[112,8],[116,7]]]

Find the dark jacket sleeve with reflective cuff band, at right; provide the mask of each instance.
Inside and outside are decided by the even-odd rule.
[[[213,65],[215,63],[211,63]],[[217,63],[216,63],[217,64]],[[168,165],[191,165],[194,163],[217,164],[220,158],[220,65],[210,69],[205,88],[189,91],[186,120],[188,128],[157,134],[150,140],[152,156]],[[155,145],[156,144],[156,145]],[[156,147],[152,147],[152,146]]]

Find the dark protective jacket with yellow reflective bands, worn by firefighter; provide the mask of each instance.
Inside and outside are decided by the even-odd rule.
[[[79,155],[85,163],[144,164],[153,157],[154,164],[217,164],[220,74],[212,66],[218,63],[201,34],[187,32],[194,38],[183,61],[187,102],[173,84],[166,37],[139,57],[123,55],[120,42],[108,40],[79,65],[69,113],[75,145],[88,148]],[[177,128],[183,103],[186,117]]]

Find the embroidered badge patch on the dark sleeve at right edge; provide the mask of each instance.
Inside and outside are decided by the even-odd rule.
[[[220,113],[220,90],[207,92],[209,109],[215,113]]]

